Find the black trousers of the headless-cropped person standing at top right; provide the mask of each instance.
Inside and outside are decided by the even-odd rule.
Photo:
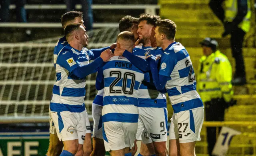
[[[242,54],[242,47],[244,42],[245,32],[240,29],[236,28],[233,32],[231,32],[231,50],[232,56],[236,60],[236,77],[245,77],[245,69],[244,69],[244,57]]]

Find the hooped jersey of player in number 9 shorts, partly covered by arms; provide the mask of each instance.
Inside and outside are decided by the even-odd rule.
[[[160,47],[144,47],[142,44],[137,45],[133,49],[134,55],[146,59],[148,55],[154,55],[156,57],[162,55],[163,50]],[[147,77],[150,77],[150,72],[145,73]],[[139,88],[139,107],[157,107],[166,108],[166,96],[156,90],[154,83],[148,83],[152,81],[148,79],[143,81]]]

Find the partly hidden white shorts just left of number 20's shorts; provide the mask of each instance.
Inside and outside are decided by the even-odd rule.
[[[92,137],[103,139],[102,135],[102,106],[92,104],[93,131]]]

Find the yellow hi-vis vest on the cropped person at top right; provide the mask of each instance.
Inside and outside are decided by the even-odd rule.
[[[225,21],[232,22],[237,14],[237,0],[225,0]],[[251,18],[251,10],[250,10],[250,0],[247,0],[248,11],[243,21],[238,25],[238,28],[244,30],[244,32],[249,32],[250,29],[250,18]]]

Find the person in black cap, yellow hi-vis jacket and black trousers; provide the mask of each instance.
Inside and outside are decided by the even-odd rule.
[[[204,103],[206,121],[224,121],[225,108],[234,105],[232,99],[232,67],[228,58],[218,50],[218,42],[205,38],[204,56],[200,58],[197,91]],[[216,142],[216,127],[207,127],[208,153],[211,156]]]

